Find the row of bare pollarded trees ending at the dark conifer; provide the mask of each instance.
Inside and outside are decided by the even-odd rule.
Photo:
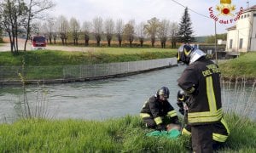
[[[110,47],[113,37],[116,37],[119,47],[124,40],[132,46],[132,42],[137,38],[141,47],[145,39],[150,39],[151,46],[154,48],[156,39],[159,39],[161,48],[166,48],[166,41],[169,39],[172,42],[172,48],[176,48],[177,42],[195,42],[191,25],[188,8],[185,8],[179,24],[156,17],[139,24],[136,24],[135,20],[125,23],[122,19],[114,21],[111,18],[103,20],[102,17],[95,17],[91,21],[86,20],[80,24],[76,18],[67,20],[64,15],[61,15],[55,20],[48,20],[38,26],[38,33],[48,37],[50,44],[56,43],[59,37],[62,44],[67,45],[67,38],[72,37],[74,45],[78,45],[78,40],[83,39],[84,45],[88,46],[90,39],[94,37],[96,45],[100,46],[102,37],[106,37]]]

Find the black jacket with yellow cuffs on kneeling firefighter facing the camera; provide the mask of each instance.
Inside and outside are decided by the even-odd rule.
[[[173,122],[177,122],[177,112],[173,109],[172,105],[166,101],[160,101],[155,96],[152,96],[145,102],[143,105],[143,110],[140,113],[140,116],[152,117],[156,125],[160,125],[162,121],[162,117],[168,116],[172,119]]]

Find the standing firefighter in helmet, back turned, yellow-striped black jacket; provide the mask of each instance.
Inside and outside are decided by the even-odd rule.
[[[218,65],[207,59],[200,49],[187,44],[178,48],[177,61],[188,65],[177,82],[189,94],[192,149],[196,153],[211,153],[213,127],[223,117]]]

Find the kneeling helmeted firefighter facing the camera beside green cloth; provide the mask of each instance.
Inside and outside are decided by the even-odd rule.
[[[169,123],[178,123],[177,112],[167,100],[169,94],[169,89],[162,87],[145,102],[140,116],[146,127],[166,130]]]

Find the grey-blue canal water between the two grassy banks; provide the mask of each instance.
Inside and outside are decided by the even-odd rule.
[[[158,88],[166,86],[171,94],[169,101],[177,109],[177,78],[185,65],[160,71],[151,71],[130,77],[111,78],[94,82],[73,82],[26,87],[26,96],[32,110],[54,119],[104,120],[126,115],[138,115],[144,102]],[[256,105],[253,86],[241,88],[226,84],[223,89],[225,110],[245,111],[255,119]],[[253,92],[252,92],[253,91]],[[242,94],[242,95],[240,95]],[[234,96],[236,95],[236,96]],[[9,122],[16,116],[19,102],[23,100],[21,87],[0,88],[1,122]],[[253,101],[253,102],[252,102]],[[34,107],[34,108],[33,108]],[[35,109],[36,108],[36,109]]]

